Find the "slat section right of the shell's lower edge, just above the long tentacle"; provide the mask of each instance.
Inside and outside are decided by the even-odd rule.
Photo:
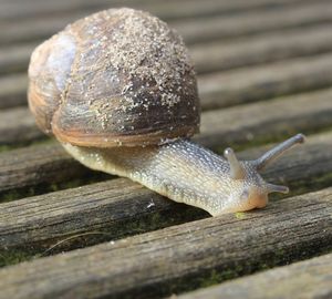
[[[208,111],[197,141],[211,147],[258,142],[267,135],[313,132],[331,126],[332,89]]]

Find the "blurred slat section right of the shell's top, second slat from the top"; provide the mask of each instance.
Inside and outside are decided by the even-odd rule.
[[[266,11],[243,11],[237,14],[226,14],[222,18],[216,16],[178,20],[170,24],[181,33],[187,44],[193,44],[298,27],[304,30],[312,24],[330,23],[332,20],[330,11],[331,2],[308,2],[295,7],[277,7]],[[0,37],[1,34],[0,32]]]

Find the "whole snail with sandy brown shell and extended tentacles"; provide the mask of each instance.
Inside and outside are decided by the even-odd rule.
[[[304,140],[298,134],[256,161],[191,142],[200,107],[188,51],[165,22],[127,8],[75,21],[39,45],[28,99],[38,126],[85,166],[212,216],[261,208],[269,193],[287,193],[259,172]]]

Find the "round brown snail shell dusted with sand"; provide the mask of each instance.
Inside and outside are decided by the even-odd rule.
[[[31,56],[29,104],[61,142],[112,147],[158,144],[199,127],[197,83],[181,38],[132,9],[92,14]]]

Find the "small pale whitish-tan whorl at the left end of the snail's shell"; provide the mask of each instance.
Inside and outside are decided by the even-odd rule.
[[[37,124],[48,134],[52,132],[52,117],[61,104],[75,53],[74,38],[60,32],[39,45],[31,55],[29,105]]]

